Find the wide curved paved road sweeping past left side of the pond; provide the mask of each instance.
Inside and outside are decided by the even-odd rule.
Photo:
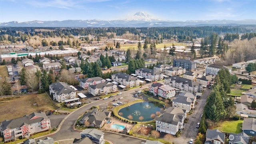
[[[144,85],[144,87],[147,87],[148,85],[149,84],[146,84],[146,85]],[[135,90],[142,90],[143,88],[134,88],[134,89],[128,90],[128,91],[122,91],[121,96],[122,97],[128,96],[128,98],[130,100],[133,100],[134,99],[134,94],[133,94],[134,91]],[[120,96],[118,95],[118,97],[120,97]],[[62,122],[60,122],[60,124],[58,126],[58,130],[55,133],[49,134],[48,136],[53,138],[54,141],[70,139],[70,138],[80,138],[81,137],[80,136],[80,132],[81,131],[77,131],[77,130],[73,129],[73,125],[78,120],[78,118],[80,116],[82,116],[82,114],[84,114],[84,112],[89,110],[92,106],[100,106],[102,104],[106,104],[106,103],[109,103],[111,101],[112,100],[109,99],[109,98],[106,99],[106,100],[101,99],[101,100],[97,100],[97,101],[91,102],[89,104],[86,104],[86,105],[78,108],[76,111],[73,111],[68,116],[66,116],[62,120]],[[40,137],[40,139],[44,139],[44,138],[45,138],[45,136],[44,137]]]

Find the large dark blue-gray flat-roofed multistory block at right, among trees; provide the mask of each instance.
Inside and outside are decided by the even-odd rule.
[[[192,62],[190,60],[178,59],[178,60],[173,60],[173,66],[178,66],[178,67],[185,68],[186,70],[189,70],[189,71],[194,71],[196,69],[196,62]]]

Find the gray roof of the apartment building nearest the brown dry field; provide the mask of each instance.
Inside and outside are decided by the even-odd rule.
[[[76,92],[66,82],[56,82],[54,84],[50,84],[50,87],[57,95],[70,94],[71,92]]]

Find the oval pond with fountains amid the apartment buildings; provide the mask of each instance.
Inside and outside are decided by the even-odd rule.
[[[119,110],[118,115],[129,120],[128,116],[132,115],[132,121],[141,121],[140,116],[143,116],[142,121],[152,120],[151,114],[161,111],[164,108],[163,104],[158,102],[138,102]]]

